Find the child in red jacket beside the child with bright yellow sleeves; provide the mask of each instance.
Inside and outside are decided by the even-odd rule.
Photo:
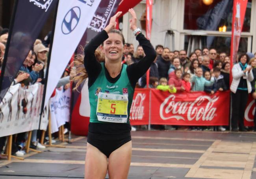
[[[182,70],[181,69],[175,69],[174,75],[171,75],[171,78],[168,81],[168,85],[170,87],[175,87],[177,91],[184,91],[185,88],[182,85]]]

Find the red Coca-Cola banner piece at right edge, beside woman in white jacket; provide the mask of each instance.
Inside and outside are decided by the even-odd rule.
[[[255,100],[252,99],[252,95],[249,94],[245,109],[245,126],[254,126],[253,117],[255,111]]]

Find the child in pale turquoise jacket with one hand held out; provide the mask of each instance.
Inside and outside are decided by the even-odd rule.
[[[203,75],[203,70],[202,68],[198,67],[196,69],[196,75],[193,76],[193,78],[191,79],[193,83],[192,91],[204,91],[205,86],[213,85],[214,74],[212,74],[210,81],[206,80],[202,75]]]

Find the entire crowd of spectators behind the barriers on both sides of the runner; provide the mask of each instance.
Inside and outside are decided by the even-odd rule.
[[[13,80],[12,85],[22,83],[23,85],[32,85],[36,82],[45,83],[45,74],[47,66],[47,55],[49,51],[51,33],[46,35],[45,40],[37,39],[33,48],[28,53],[23,65],[20,67],[17,76]],[[2,67],[6,42],[8,38],[8,29],[0,31],[0,70]],[[157,45],[157,57],[150,66],[149,88],[156,88],[170,93],[204,91],[213,95],[217,91],[232,91],[232,108],[235,113],[232,114],[232,130],[247,131],[243,125],[242,115],[245,110],[245,104],[248,94],[252,93],[256,99],[255,79],[256,79],[256,58],[253,54],[241,54],[234,65],[233,81],[230,87],[230,57],[226,52],[217,52],[214,48],[195,49],[193,53],[187,54],[186,50],[174,50],[173,52],[162,45]],[[98,53],[98,52],[97,52]],[[95,54],[97,55],[97,54]],[[99,53],[99,56],[102,55]],[[124,56],[122,63],[131,65],[138,63],[145,56],[143,48],[137,46],[134,51],[134,45],[126,43],[124,46]],[[98,58],[100,59],[100,57]],[[244,63],[241,63],[241,61]],[[57,87],[64,86],[64,90],[70,86],[69,73],[70,64],[63,73],[63,77]],[[82,72],[82,71],[81,71]],[[75,70],[72,72],[75,76]],[[232,69],[233,73],[233,69]],[[146,74],[144,74],[137,82],[136,87],[145,88]],[[234,99],[234,100],[233,100]],[[234,110],[236,109],[236,110]],[[239,112],[240,111],[240,112]],[[256,117],[254,117],[256,123]],[[238,128],[239,126],[239,128]],[[145,127],[145,126],[144,126]],[[175,130],[178,126],[156,126],[157,129]],[[145,127],[146,128],[146,127]],[[213,130],[212,127],[188,127],[188,130]],[[219,126],[217,129],[225,131],[226,128]],[[133,127],[133,130],[134,127]],[[256,130],[256,127],[254,128]],[[24,155],[22,149],[25,146],[27,133],[17,134],[15,142],[13,142],[12,152],[17,156]],[[44,149],[45,146],[37,142],[40,138],[40,132],[35,130],[32,132],[31,148]],[[3,150],[6,137],[0,138],[0,151]],[[0,159],[5,158],[0,155]]]

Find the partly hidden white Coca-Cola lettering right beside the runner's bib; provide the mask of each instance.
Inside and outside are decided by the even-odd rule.
[[[146,94],[138,93],[134,100],[132,100],[132,106],[130,110],[131,120],[142,120],[144,116],[143,101],[146,98]]]

